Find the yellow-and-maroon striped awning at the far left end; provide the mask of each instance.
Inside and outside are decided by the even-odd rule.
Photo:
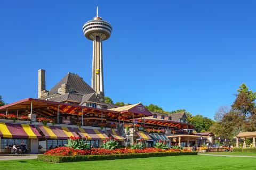
[[[0,122],[0,137],[3,138],[42,138],[34,125]]]

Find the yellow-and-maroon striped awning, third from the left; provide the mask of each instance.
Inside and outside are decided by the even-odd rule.
[[[74,128],[74,130],[87,140],[105,140],[108,136],[99,129]]]

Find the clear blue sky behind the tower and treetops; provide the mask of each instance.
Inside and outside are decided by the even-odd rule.
[[[213,117],[241,83],[256,91],[256,1],[2,1],[0,95],[37,97],[68,72],[91,84],[92,42],[82,31],[99,6],[105,94],[114,101]]]

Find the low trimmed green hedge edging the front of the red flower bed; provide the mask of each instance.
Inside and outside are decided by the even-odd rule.
[[[131,158],[147,158],[161,156],[179,156],[179,155],[197,155],[197,152],[151,152],[139,154],[116,154],[116,155],[78,155],[78,156],[53,156],[53,155],[38,155],[38,160],[66,163],[66,162],[82,162],[90,160],[113,160],[113,159],[131,159]]]

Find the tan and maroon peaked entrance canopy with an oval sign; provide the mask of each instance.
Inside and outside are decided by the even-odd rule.
[[[152,116],[152,113],[149,112],[148,109],[145,106],[143,106],[141,103],[123,106],[123,107],[111,108],[108,110],[116,111],[120,113],[133,113],[133,114],[139,114],[139,115]]]

